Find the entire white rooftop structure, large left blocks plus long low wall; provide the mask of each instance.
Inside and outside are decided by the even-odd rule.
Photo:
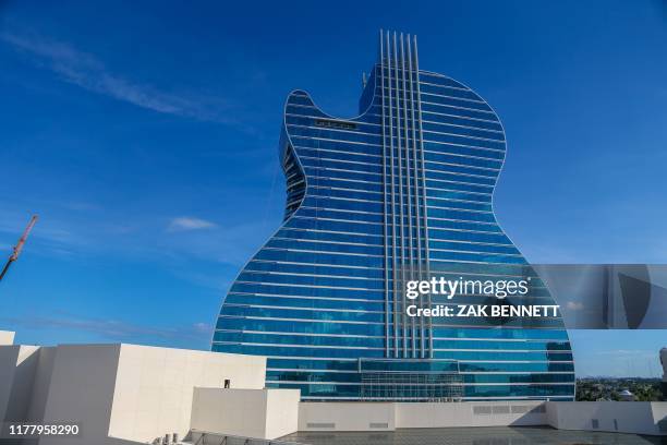
[[[228,445],[247,437],[277,444],[295,432],[508,425],[667,434],[667,402],[303,402],[298,389],[265,388],[265,373],[266,358],[257,356],[125,344],[4,345],[0,422],[68,420],[81,430],[41,436],[39,445],[132,445],[166,436],[183,444],[226,437]]]

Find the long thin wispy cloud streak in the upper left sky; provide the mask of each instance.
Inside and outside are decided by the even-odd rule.
[[[0,40],[29,56],[35,64],[52,71],[64,82],[89,92],[166,115],[232,123],[220,109],[228,108],[223,100],[214,101],[210,97],[167,93],[151,85],[130,81],[109,70],[93,55],[68,44],[8,32],[0,34]]]

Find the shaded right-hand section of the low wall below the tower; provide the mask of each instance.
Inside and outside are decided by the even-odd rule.
[[[549,425],[559,430],[667,435],[664,401],[547,401]]]

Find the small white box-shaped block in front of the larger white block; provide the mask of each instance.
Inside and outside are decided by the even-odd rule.
[[[272,440],[299,429],[299,389],[195,388],[193,431]]]

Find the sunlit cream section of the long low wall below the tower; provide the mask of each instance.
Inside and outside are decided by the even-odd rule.
[[[300,431],[545,425],[543,401],[302,402]]]

